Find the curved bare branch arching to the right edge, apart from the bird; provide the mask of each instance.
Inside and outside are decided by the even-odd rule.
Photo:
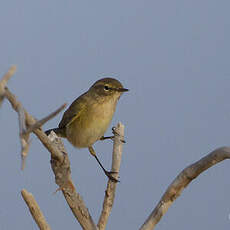
[[[140,230],[154,229],[161,217],[167,212],[168,208],[172,205],[176,198],[180,196],[181,192],[193,179],[195,179],[208,168],[225,159],[230,159],[230,147],[216,149],[199,161],[185,168],[169,185],[166,192],[161,197],[161,200],[147,218],[145,223],[141,226]]]

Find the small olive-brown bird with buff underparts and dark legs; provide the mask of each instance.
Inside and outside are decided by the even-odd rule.
[[[58,128],[49,129],[49,135],[54,131],[59,137],[67,140],[77,148],[88,148],[95,157],[105,175],[114,182],[118,182],[112,174],[105,170],[92,145],[104,137],[104,133],[113,118],[117,102],[123,92],[128,91],[114,78],[103,78],[96,81],[87,92],[78,97],[65,111]]]

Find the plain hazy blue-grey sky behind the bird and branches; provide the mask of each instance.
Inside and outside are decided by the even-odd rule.
[[[102,77],[130,89],[111,124],[125,124],[127,143],[107,229],[138,229],[183,168],[230,145],[229,9],[229,0],[1,3],[0,73],[17,65],[8,86],[36,118],[70,104]],[[62,194],[53,195],[50,155],[34,135],[20,171],[17,114],[7,101],[0,143],[0,229],[37,229],[22,188],[33,193],[52,229],[80,229]],[[107,178],[87,149],[65,146],[73,180],[97,222]],[[112,143],[95,149],[110,168]],[[193,181],[156,229],[229,229],[229,164]]]

